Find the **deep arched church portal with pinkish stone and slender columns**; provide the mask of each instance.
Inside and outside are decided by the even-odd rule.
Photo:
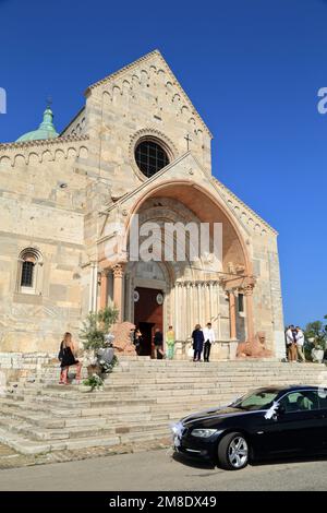
[[[122,320],[137,322],[135,293],[140,294],[140,288],[153,289],[164,296],[162,323],[158,327],[165,331],[172,324],[177,339],[183,345],[183,351],[196,323],[213,323],[219,347],[228,345],[231,341],[252,338],[252,265],[243,237],[231,213],[219,198],[195,182],[174,180],[148,188],[129,207],[129,212],[128,254],[131,258],[132,223],[137,216],[141,261],[129,261],[124,264]],[[194,259],[194,240],[191,231],[186,230],[185,258],[179,260],[177,231],[168,241],[166,234],[166,226],[177,223],[197,226],[198,235],[202,232],[202,226],[206,225],[210,251],[202,252],[199,248],[198,258]],[[142,232],[146,225],[158,227],[153,230],[152,237],[148,237],[153,249],[160,248],[153,263],[142,261],[141,250],[150,232]],[[222,246],[219,254],[213,250],[216,225],[221,226]],[[168,253],[173,255],[172,260],[165,258],[167,247]],[[157,277],[150,276],[150,273],[155,273]],[[145,294],[145,290],[143,293]]]

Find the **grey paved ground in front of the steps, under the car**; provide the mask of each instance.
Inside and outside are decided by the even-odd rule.
[[[167,450],[0,470],[0,490],[326,490],[327,460],[225,472]]]

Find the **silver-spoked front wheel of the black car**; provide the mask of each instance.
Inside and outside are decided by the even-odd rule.
[[[241,470],[249,463],[249,444],[242,433],[229,433],[218,445],[218,465],[227,470]]]

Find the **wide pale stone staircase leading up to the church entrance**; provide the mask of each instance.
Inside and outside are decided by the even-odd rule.
[[[0,442],[23,454],[168,442],[169,425],[269,384],[322,384],[324,365],[120,357],[101,392],[58,385],[47,363],[0,396]],[[31,382],[34,381],[34,382]]]

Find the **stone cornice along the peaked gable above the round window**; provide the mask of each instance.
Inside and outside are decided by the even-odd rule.
[[[185,93],[185,91],[183,90],[183,87],[181,86],[181,84],[179,83],[178,79],[175,77],[175,75],[173,74],[173,72],[171,71],[169,64],[166,62],[165,58],[162,57],[161,52],[159,50],[154,50],[154,51],[150,51],[149,53],[146,53],[145,56],[141,57],[140,59],[135,60],[134,62],[131,62],[130,64],[121,68],[120,70],[111,73],[110,75],[108,76],[105,76],[105,79],[101,79],[99,80],[98,82],[95,82],[94,84],[89,85],[87,87],[87,90],[85,91],[85,96],[87,96],[92,90],[98,87],[98,86],[101,86],[101,85],[106,85],[108,82],[112,82],[114,81],[116,79],[120,79],[122,77],[123,75],[125,75],[126,73],[129,73],[130,71],[132,71],[134,68],[136,68],[137,65],[140,65],[141,63],[143,62],[148,62],[149,60],[152,60],[154,57],[159,57],[159,59],[161,60],[161,64],[162,67],[165,68],[165,71],[167,73],[170,74],[170,76],[172,77],[173,80],[173,85],[177,87],[177,90],[179,91],[179,93],[185,97],[186,102],[189,103],[189,106],[192,110],[192,115],[195,116],[197,118],[197,120],[199,121],[199,123],[202,124],[202,127],[205,129],[205,131],[208,133],[208,135],[214,139],[210,130],[208,129],[208,127],[206,126],[206,123],[204,122],[204,120],[202,119],[202,117],[199,116],[199,114],[197,112],[196,108],[194,107],[194,105],[192,104],[189,95]]]

